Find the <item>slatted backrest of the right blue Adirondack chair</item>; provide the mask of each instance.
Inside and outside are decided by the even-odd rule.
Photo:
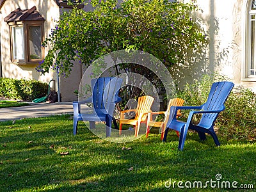
[[[205,102],[202,109],[204,111],[211,111],[220,110],[221,108],[223,108],[224,103],[227,100],[228,95],[230,94],[233,87],[234,83],[229,81],[213,83],[209,92],[207,102]],[[205,125],[206,127],[211,127],[211,125],[216,120],[218,114],[219,113],[203,114],[199,124]]]

